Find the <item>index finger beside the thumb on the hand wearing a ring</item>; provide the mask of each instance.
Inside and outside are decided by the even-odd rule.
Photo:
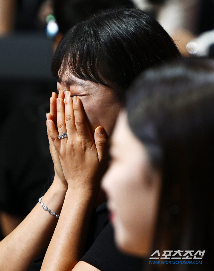
[[[80,99],[76,96],[73,97],[73,108],[76,130],[79,137],[84,140],[91,140],[93,137],[86,121],[85,114],[83,112],[82,103]]]

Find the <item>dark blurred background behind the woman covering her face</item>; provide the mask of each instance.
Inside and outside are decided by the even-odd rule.
[[[46,133],[50,71],[65,32],[99,9],[135,5],[184,56],[214,55],[213,0],[0,0],[0,239],[36,204],[53,164]]]

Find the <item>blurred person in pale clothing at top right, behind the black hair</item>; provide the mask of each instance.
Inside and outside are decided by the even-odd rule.
[[[164,27],[181,53],[187,56],[186,44],[196,35],[198,0],[134,0],[134,2]]]

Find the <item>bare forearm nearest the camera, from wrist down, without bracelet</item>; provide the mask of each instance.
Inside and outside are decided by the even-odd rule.
[[[83,256],[93,207],[92,195],[68,189],[41,271],[71,271],[79,262]]]

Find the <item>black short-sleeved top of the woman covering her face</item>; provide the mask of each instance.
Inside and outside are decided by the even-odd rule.
[[[41,196],[53,183],[54,175],[50,176]],[[120,252],[114,244],[112,225],[106,202],[99,205],[92,214],[85,255],[80,259],[101,271],[142,271],[143,260]],[[39,271],[44,255],[36,258],[29,271]]]

